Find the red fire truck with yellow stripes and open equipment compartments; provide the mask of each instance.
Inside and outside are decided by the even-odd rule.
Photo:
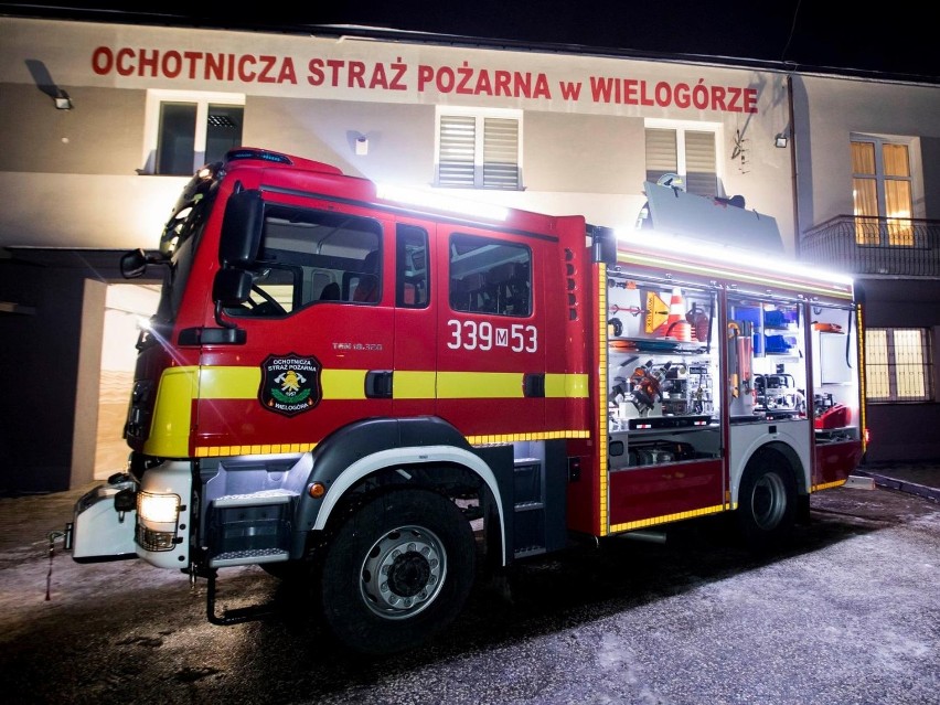
[[[853,284],[773,218],[644,189],[616,233],[261,149],[201,170],[121,260],[164,284],[128,470],[76,504],[73,558],[205,578],[222,624],[255,615],[216,609],[218,572],[259,565],[389,653],[578,536],[731,512],[779,544],[864,452]]]

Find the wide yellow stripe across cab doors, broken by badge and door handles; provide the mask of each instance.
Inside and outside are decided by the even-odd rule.
[[[193,367],[193,370],[195,370]],[[366,370],[323,370],[324,399],[364,399]],[[523,398],[521,372],[427,372],[396,370],[396,399]],[[203,399],[250,399],[258,396],[258,367],[205,366],[199,370],[199,396]],[[587,374],[545,375],[546,398],[587,398]]]

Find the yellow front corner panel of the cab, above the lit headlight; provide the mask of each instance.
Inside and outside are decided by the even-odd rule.
[[[143,452],[185,458],[190,452],[192,400],[199,393],[199,367],[170,367],[160,376],[150,435]]]

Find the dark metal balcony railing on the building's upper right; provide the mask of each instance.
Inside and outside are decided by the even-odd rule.
[[[837,215],[803,235],[799,257],[856,275],[940,277],[940,221]]]

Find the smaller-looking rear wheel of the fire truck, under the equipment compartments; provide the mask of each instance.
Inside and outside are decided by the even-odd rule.
[[[778,548],[797,521],[793,470],[776,452],[758,452],[745,468],[735,512],[745,544],[752,551]]]

